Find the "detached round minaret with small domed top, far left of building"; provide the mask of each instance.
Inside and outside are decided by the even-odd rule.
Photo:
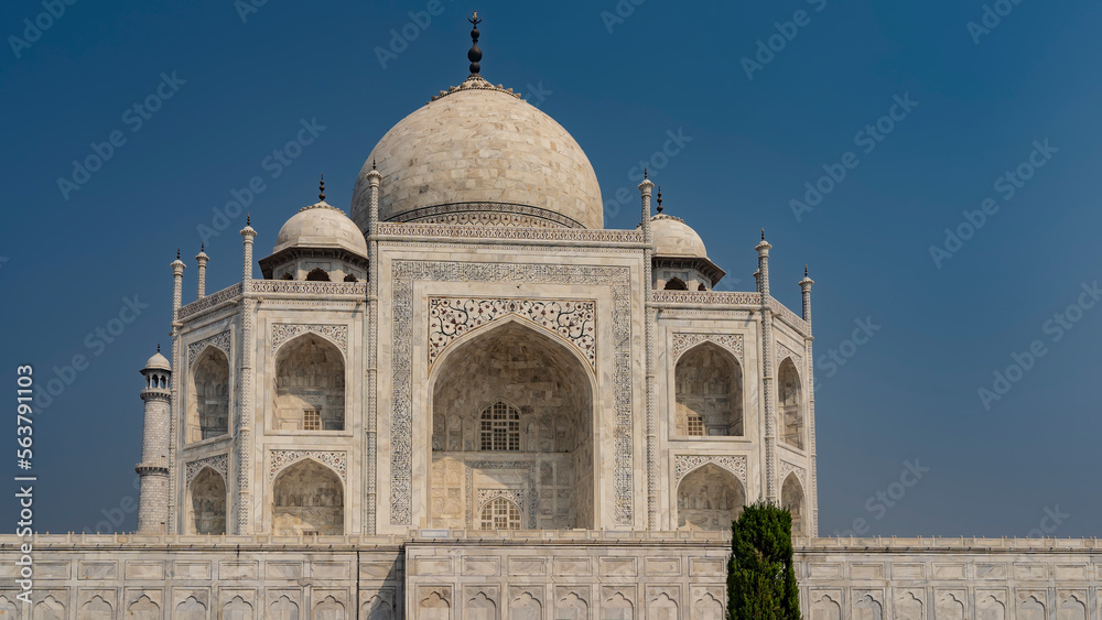
[[[141,370],[145,387],[145,421],[141,436],[141,463],[134,467],[140,477],[138,490],[138,533],[165,534],[169,521],[169,409],[172,367],[161,355],[149,358]]]

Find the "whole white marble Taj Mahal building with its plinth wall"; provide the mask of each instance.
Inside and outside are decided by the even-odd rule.
[[[585,153],[483,77],[471,21],[469,75],[352,204],[273,199],[222,291],[177,252],[138,531],[37,536],[0,618],[720,620],[731,522],[768,500],[806,618],[1102,619],[1096,540],[818,537],[807,271],[770,274],[765,231],[715,264],[657,178],[606,229]]]

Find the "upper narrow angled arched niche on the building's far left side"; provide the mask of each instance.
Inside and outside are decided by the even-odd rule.
[[[187,403],[187,440],[198,442],[229,433],[229,359],[207,347],[191,368],[192,398]]]

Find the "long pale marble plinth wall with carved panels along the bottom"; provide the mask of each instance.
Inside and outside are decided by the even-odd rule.
[[[698,532],[39,536],[12,618],[723,618],[730,542]],[[804,618],[1102,620],[1102,541],[803,539]],[[358,613],[357,611],[358,610]]]

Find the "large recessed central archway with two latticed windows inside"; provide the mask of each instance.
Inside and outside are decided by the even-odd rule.
[[[431,526],[592,527],[592,374],[570,345],[500,320],[436,361]]]

